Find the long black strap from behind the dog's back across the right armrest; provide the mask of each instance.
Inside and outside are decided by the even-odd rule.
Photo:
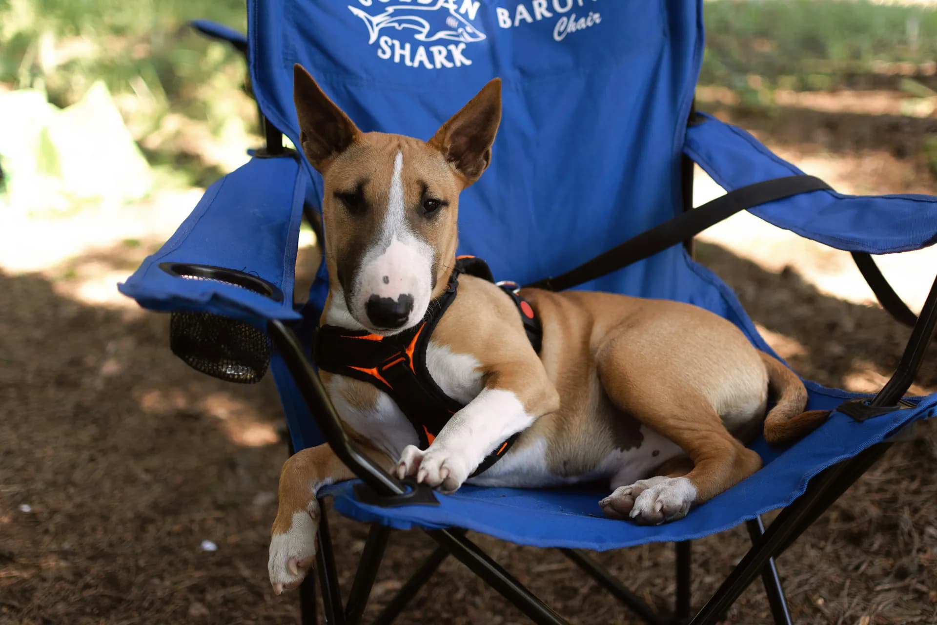
[[[653,256],[670,246],[692,239],[706,228],[739,211],[760,206],[769,201],[783,200],[798,193],[820,190],[831,191],[832,188],[819,178],[803,174],[773,178],[742,186],[720,198],[707,201],[692,211],[668,219],[659,226],[632,237],[594,259],[587,260],[565,274],[543,278],[525,287],[546,290],[572,289],[584,282],[627,267],[633,262]]]

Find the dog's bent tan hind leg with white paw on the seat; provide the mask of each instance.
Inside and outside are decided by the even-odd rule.
[[[606,350],[605,353],[614,350]],[[600,358],[602,386],[619,409],[679,445],[692,461],[634,484],[616,484],[600,504],[606,514],[656,525],[682,518],[761,469],[761,457],[735,439],[703,394],[679,378],[624,368],[617,353]],[[626,375],[624,372],[628,371]],[[687,470],[689,469],[689,470]]]

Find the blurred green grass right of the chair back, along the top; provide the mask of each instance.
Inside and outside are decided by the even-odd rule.
[[[937,10],[869,0],[710,0],[701,84],[740,92],[894,82],[937,59]],[[915,67],[895,67],[895,64]],[[900,71],[899,71],[900,70]],[[756,86],[751,76],[757,76]],[[896,79],[897,80],[897,79]],[[861,83],[856,85],[855,83]],[[749,94],[751,95],[751,94]]]

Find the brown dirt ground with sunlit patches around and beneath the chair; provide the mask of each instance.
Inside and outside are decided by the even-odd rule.
[[[800,141],[783,140],[790,137],[784,132],[766,138],[843,190],[934,192],[915,158],[868,145],[840,148],[839,130],[817,127],[825,130],[805,130]],[[917,141],[914,133],[908,141]],[[710,192],[700,184],[699,193]],[[193,203],[180,195],[127,209],[123,230],[108,216],[100,216],[101,228],[86,216],[87,232],[62,221],[46,231],[21,224],[0,239],[0,623],[298,618],[296,595],[275,597],[266,579],[286,454],[272,380],[241,387],[195,374],[168,349],[168,317],[143,312],[113,290]],[[795,244],[745,218],[707,232],[698,258],[736,290],[799,373],[855,390],[881,386],[909,331],[870,305],[848,255]],[[111,234],[100,234],[104,224]],[[313,257],[306,248],[306,277]],[[917,305],[935,258],[888,260],[889,275]],[[937,352],[915,387],[935,389]],[[335,514],[331,521],[347,591],[366,528]],[[571,622],[639,622],[558,552],[472,538]],[[744,528],[694,543],[695,606],[748,544]],[[419,532],[394,534],[369,616],[433,546]],[[671,604],[672,545],[597,558],[649,603]],[[920,424],[913,442],[893,448],[778,565],[798,623],[937,623],[935,425]],[[447,561],[401,622],[527,621]],[[760,583],[728,622],[769,622]]]

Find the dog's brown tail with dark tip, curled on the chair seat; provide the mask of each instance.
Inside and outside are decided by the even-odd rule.
[[[759,351],[767,369],[767,386],[777,403],[765,417],[765,439],[769,443],[791,442],[810,434],[829,417],[829,410],[809,410],[807,389],[796,374],[778,359]]]

